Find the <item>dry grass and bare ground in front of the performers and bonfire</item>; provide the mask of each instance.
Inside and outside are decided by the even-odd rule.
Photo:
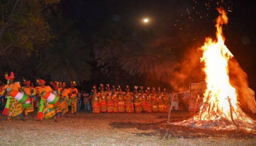
[[[173,112],[172,121],[193,113]],[[166,124],[166,113],[98,114],[79,112],[69,117],[37,121],[36,117],[0,116],[1,146],[80,145],[256,145],[255,132],[213,131]],[[256,119],[255,115],[251,115]]]

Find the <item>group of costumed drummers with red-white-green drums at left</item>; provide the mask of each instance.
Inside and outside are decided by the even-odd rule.
[[[1,84],[0,97],[1,102],[5,104],[2,115],[7,116],[7,120],[12,117],[20,116],[24,120],[24,115],[31,113],[34,116],[35,109],[39,120],[49,119],[64,115],[69,112],[76,114],[77,94],[76,82],[70,83],[66,88],[64,82],[51,82],[51,86],[46,86],[42,79],[36,80],[37,86],[31,85],[30,80],[23,80],[24,86],[19,82],[14,82],[14,73],[5,75],[7,84]],[[23,115],[24,114],[24,115]],[[57,116],[57,117],[56,117]]]

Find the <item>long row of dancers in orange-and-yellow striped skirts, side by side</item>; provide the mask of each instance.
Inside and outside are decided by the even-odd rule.
[[[92,101],[93,113],[141,113],[141,112],[168,112],[169,110],[169,94],[166,89],[161,92],[160,87],[156,90],[155,87],[147,87],[144,90],[143,86],[134,86],[134,92],[131,92],[129,86],[122,91],[121,86],[111,87],[103,84],[97,92],[96,86],[93,86],[90,96]],[[88,99],[88,100],[89,100]]]

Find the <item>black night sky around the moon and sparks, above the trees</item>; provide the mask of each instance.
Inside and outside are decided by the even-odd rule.
[[[93,47],[93,35],[109,22],[132,30],[148,29],[155,38],[177,37],[190,40],[187,48],[196,49],[207,36],[215,37],[217,7],[223,6],[229,17],[224,26],[226,45],[248,74],[249,86],[256,90],[256,2],[254,0],[62,0],[63,16],[73,20],[83,33],[88,47]],[[150,23],[141,23],[149,17]],[[180,43],[180,42],[177,42]],[[163,43],[169,47],[172,44]],[[196,46],[196,47],[195,47]],[[186,54],[187,48],[178,48]],[[198,58],[199,59],[199,58]]]

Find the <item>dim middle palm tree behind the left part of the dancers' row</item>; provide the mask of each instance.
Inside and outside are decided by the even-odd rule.
[[[118,23],[108,22],[93,37],[94,58],[108,83],[119,84],[121,74],[124,74],[118,59],[129,50],[130,36],[127,31],[129,29]]]

